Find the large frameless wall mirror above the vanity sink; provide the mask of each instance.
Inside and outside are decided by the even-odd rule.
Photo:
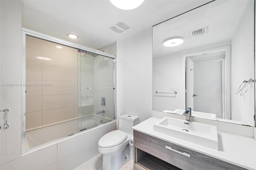
[[[153,26],[153,110],[255,127],[255,0],[215,0]]]

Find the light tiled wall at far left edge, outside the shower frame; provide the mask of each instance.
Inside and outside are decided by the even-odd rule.
[[[0,1],[0,109],[9,109],[8,125],[0,131],[0,169],[2,164],[20,158],[21,140],[21,1]],[[0,113],[2,120],[3,114]]]

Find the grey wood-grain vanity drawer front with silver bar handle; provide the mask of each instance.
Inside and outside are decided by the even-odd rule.
[[[245,170],[234,164],[134,130],[134,147],[183,170]]]

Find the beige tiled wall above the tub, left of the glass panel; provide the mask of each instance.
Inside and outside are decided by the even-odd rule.
[[[26,36],[26,130],[77,118],[77,93],[77,50]]]

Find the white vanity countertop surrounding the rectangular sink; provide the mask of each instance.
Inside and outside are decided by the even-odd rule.
[[[198,144],[155,132],[153,130],[153,125],[159,120],[161,119],[151,117],[134,126],[133,129],[231,164],[241,166],[249,170],[256,170],[256,140],[254,140],[254,138],[218,131],[219,150],[213,150]]]

